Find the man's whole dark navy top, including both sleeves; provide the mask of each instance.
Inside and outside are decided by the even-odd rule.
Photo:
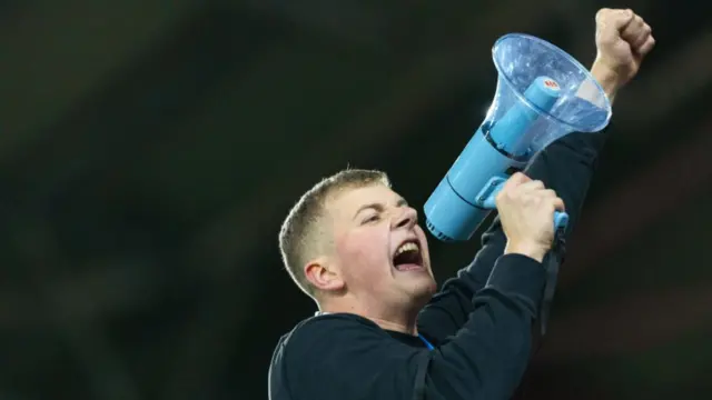
[[[564,200],[566,234],[578,220],[605,137],[568,134],[526,169]],[[506,239],[498,219],[482,241],[474,261],[418,316],[418,331],[434,350],[358,316],[313,317],[280,339],[269,370],[270,399],[512,398],[534,347],[546,268],[524,256],[502,256]]]

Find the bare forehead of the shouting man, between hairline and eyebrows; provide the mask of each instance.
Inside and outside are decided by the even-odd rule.
[[[336,219],[352,219],[364,206],[396,206],[403,198],[385,184],[344,188],[329,197],[326,209]]]

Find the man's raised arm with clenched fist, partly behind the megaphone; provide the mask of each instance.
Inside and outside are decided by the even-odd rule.
[[[601,9],[595,19],[597,53],[591,73],[613,102],[619,90],[635,77],[643,58],[655,46],[655,39],[650,26],[631,10]],[[580,96],[585,98],[585,93]],[[564,200],[570,217],[565,237],[571,234],[581,217],[606,138],[605,132],[567,134],[540,152],[525,171],[530,178],[554,189]],[[472,307],[468,300],[482,288],[505,246],[497,218],[483,236],[482,249],[474,261],[456,278],[446,281],[442,292],[418,316],[418,326],[433,340],[444,340],[464,323]],[[557,263],[556,260],[553,262]]]

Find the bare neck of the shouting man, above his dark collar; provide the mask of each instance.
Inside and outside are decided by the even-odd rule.
[[[324,313],[353,313],[366,318],[378,327],[389,331],[417,336],[416,316],[417,312],[380,312],[374,308],[363,307],[358,303],[346,303],[330,301],[319,304],[320,312]]]

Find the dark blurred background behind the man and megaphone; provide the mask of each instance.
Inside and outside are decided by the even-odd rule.
[[[315,306],[277,231],[318,179],[422,207],[484,117],[493,42],[584,64],[594,14],[657,47],[621,92],[531,399],[708,399],[708,1],[0,1],[0,399],[266,399]],[[431,241],[439,281],[478,242]]]

